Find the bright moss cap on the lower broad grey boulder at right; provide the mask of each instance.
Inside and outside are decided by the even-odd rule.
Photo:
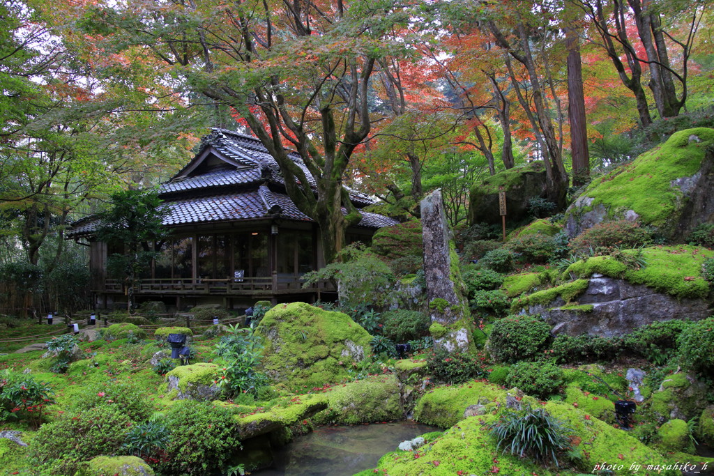
[[[563,275],[581,278],[600,273],[610,278],[623,278],[633,284],[644,284],[676,298],[705,298],[709,283],[702,277],[702,265],[714,258],[714,250],[700,246],[655,246],[643,250],[645,268],[632,270],[610,256],[596,256],[573,263]]]

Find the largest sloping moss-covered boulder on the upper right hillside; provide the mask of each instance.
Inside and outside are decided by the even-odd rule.
[[[603,221],[653,226],[667,238],[685,238],[714,222],[714,129],[674,133],[632,163],[596,178],[565,212],[573,237]]]

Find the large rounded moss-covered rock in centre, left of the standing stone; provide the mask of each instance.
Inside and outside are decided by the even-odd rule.
[[[348,315],[306,303],[277,305],[256,332],[265,342],[265,372],[296,390],[339,382],[371,352],[371,335]]]

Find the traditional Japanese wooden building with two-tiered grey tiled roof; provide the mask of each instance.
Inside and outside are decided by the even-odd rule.
[[[305,168],[297,153],[290,157]],[[301,276],[325,265],[320,232],[288,198],[278,163],[257,138],[214,129],[159,196],[171,210],[164,219],[171,239],[142,277],[140,301],[162,300],[177,310],[203,303],[246,308],[256,300],[314,300],[334,292],[328,283],[302,288]],[[357,208],[373,203],[360,193],[350,196]],[[348,241],[368,242],[377,228],[397,223],[376,213],[362,217],[348,229]],[[96,226],[86,218],[68,236],[89,241],[96,302],[111,308],[126,303],[126,289],[107,276],[106,258],[123,250],[96,241]]]

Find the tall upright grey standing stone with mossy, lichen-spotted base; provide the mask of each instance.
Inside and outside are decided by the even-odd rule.
[[[468,350],[471,344],[470,313],[466,285],[458,269],[456,247],[441,200],[436,190],[421,201],[421,225],[424,240],[426,298],[429,303],[429,332],[436,348]]]

